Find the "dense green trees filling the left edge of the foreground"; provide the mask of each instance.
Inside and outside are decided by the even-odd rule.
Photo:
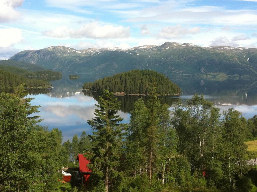
[[[62,134],[36,125],[39,106],[25,95],[24,85],[0,94],[0,191],[55,190],[65,161]]]

